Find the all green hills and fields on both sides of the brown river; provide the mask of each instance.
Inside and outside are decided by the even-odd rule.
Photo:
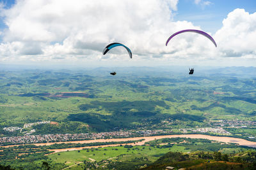
[[[232,70],[236,73],[231,74]],[[148,131],[156,130],[195,134],[202,133],[195,129],[221,127],[230,134],[204,133],[256,141],[256,78],[252,74],[255,71],[228,67],[215,73],[216,70],[207,70],[188,76],[175,69],[148,67],[124,68],[116,76],[109,76],[106,68],[97,71],[0,71],[1,138],[120,130],[132,132],[134,136],[148,135]],[[24,126],[42,121],[50,123]],[[4,130],[4,127],[10,129]],[[3,148],[0,164],[15,169],[62,169],[71,165],[74,169],[162,168],[167,165],[191,169],[214,166],[250,169],[255,164],[253,148],[186,138],[160,139],[145,146],[115,143],[125,146],[47,155],[53,148],[105,144]],[[161,158],[165,153],[168,154]],[[170,164],[165,160],[170,160]]]

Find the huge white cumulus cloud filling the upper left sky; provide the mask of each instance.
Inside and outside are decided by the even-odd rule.
[[[3,10],[8,29],[3,32],[13,55],[99,55],[113,41],[147,52],[150,41],[172,18],[178,0],[45,1],[18,0]],[[170,29],[169,29],[170,30]],[[161,37],[163,38],[163,37]],[[142,40],[142,41],[141,41]],[[16,44],[15,43],[15,44]],[[144,47],[144,44],[147,44]],[[98,52],[98,53],[97,53]]]

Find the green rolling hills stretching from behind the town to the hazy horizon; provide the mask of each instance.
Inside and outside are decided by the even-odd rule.
[[[239,120],[256,118],[255,78],[209,76],[211,71],[208,76],[180,77],[154,69],[134,77],[129,71],[115,77],[99,77],[100,72],[88,76],[88,71],[2,72],[0,132],[22,136],[30,129],[20,133],[3,127],[23,127],[42,120],[57,124],[35,125],[33,134],[180,129],[207,127],[211,120],[234,120],[234,116]],[[171,124],[163,124],[164,120]],[[246,132],[227,130],[255,136],[255,127]]]

